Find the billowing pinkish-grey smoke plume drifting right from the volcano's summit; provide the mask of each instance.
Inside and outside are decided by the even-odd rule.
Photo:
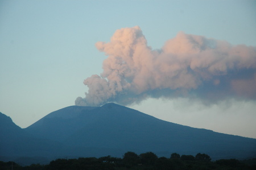
[[[89,90],[76,105],[129,105],[160,97],[256,99],[255,47],[179,32],[152,50],[138,26],[117,30],[109,43],[96,47],[108,56],[104,71],[84,80]]]

